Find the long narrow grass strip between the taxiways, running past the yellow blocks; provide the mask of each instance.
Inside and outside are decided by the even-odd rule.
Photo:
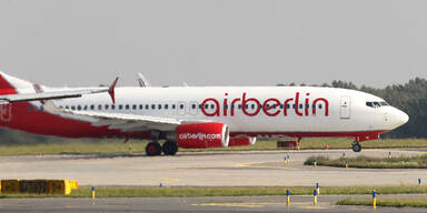
[[[97,197],[163,197],[163,196],[267,196],[286,195],[286,190],[291,195],[311,195],[314,186],[234,186],[234,187],[97,187]],[[320,186],[321,195],[350,195],[370,194],[376,190],[378,194],[426,194],[427,186],[397,185],[397,186]],[[73,190],[67,197],[90,197],[91,187],[81,186]],[[2,194],[0,197],[62,197],[60,195],[29,195]]]

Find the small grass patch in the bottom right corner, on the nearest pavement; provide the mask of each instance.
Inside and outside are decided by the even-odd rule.
[[[373,205],[370,199],[345,199],[337,202],[337,205]],[[378,199],[377,206],[386,207],[427,207],[427,199]]]

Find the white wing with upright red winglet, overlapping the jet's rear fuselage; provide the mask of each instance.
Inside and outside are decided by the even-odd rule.
[[[26,102],[26,101],[46,101],[54,99],[70,99],[70,98],[80,98],[85,94],[95,94],[108,92],[111,95],[112,102],[115,102],[115,88],[117,84],[118,78],[111,84],[110,88],[106,89],[90,89],[90,90],[67,90],[58,92],[38,92],[38,93],[26,93],[26,94],[6,94],[0,95],[0,104],[8,104],[14,102]]]

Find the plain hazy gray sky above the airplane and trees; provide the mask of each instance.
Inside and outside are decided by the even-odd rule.
[[[47,85],[427,78],[427,1],[1,0],[0,70]]]

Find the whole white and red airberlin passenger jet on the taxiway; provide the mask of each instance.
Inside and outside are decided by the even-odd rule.
[[[116,88],[117,81],[109,88],[48,88],[0,72],[0,126],[63,138],[150,140],[146,153],[155,156],[175,155],[178,148],[289,138],[354,138],[351,148],[360,152],[360,142],[409,120],[384,99],[347,89]]]

